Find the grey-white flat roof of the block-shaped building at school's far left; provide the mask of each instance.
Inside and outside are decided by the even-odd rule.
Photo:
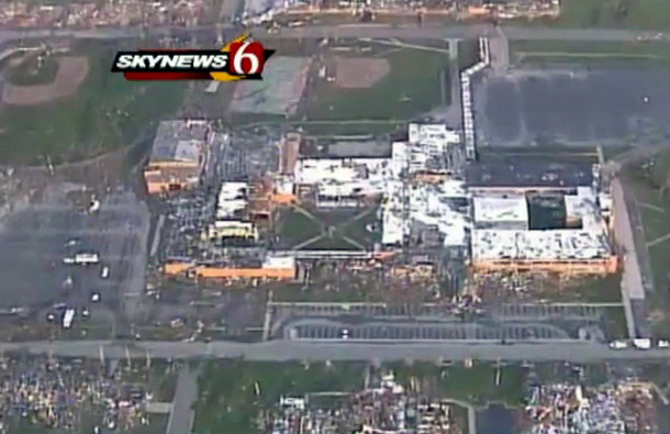
[[[164,121],[158,125],[152,148],[152,163],[191,162],[199,164],[208,140],[205,121]]]

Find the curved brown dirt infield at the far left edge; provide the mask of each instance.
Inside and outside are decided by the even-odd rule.
[[[5,84],[2,90],[2,103],[37,105],[75,93],[88,76],[88,57],[60,57],[58,63],[56,78],[48,85],[14,86]]]

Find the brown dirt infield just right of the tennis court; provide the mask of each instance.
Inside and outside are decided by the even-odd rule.
[[[335,84],[345,89],[371,88],[390,71],[391,66],[386,58],[335,58]]]

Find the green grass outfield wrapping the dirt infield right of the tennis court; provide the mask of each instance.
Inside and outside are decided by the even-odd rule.
[[[383,57],[390,73],[371,88],[315,84],[306,104],[308,119],[402,121],[442,104],[442,91],[449,91],[448,55],[402,48]]]

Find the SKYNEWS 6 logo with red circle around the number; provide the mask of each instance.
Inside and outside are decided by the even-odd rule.
[[[129,80],[260,80],[275,53],[244,35],[222,49],[148,49],[120,52],[112,73]]]

